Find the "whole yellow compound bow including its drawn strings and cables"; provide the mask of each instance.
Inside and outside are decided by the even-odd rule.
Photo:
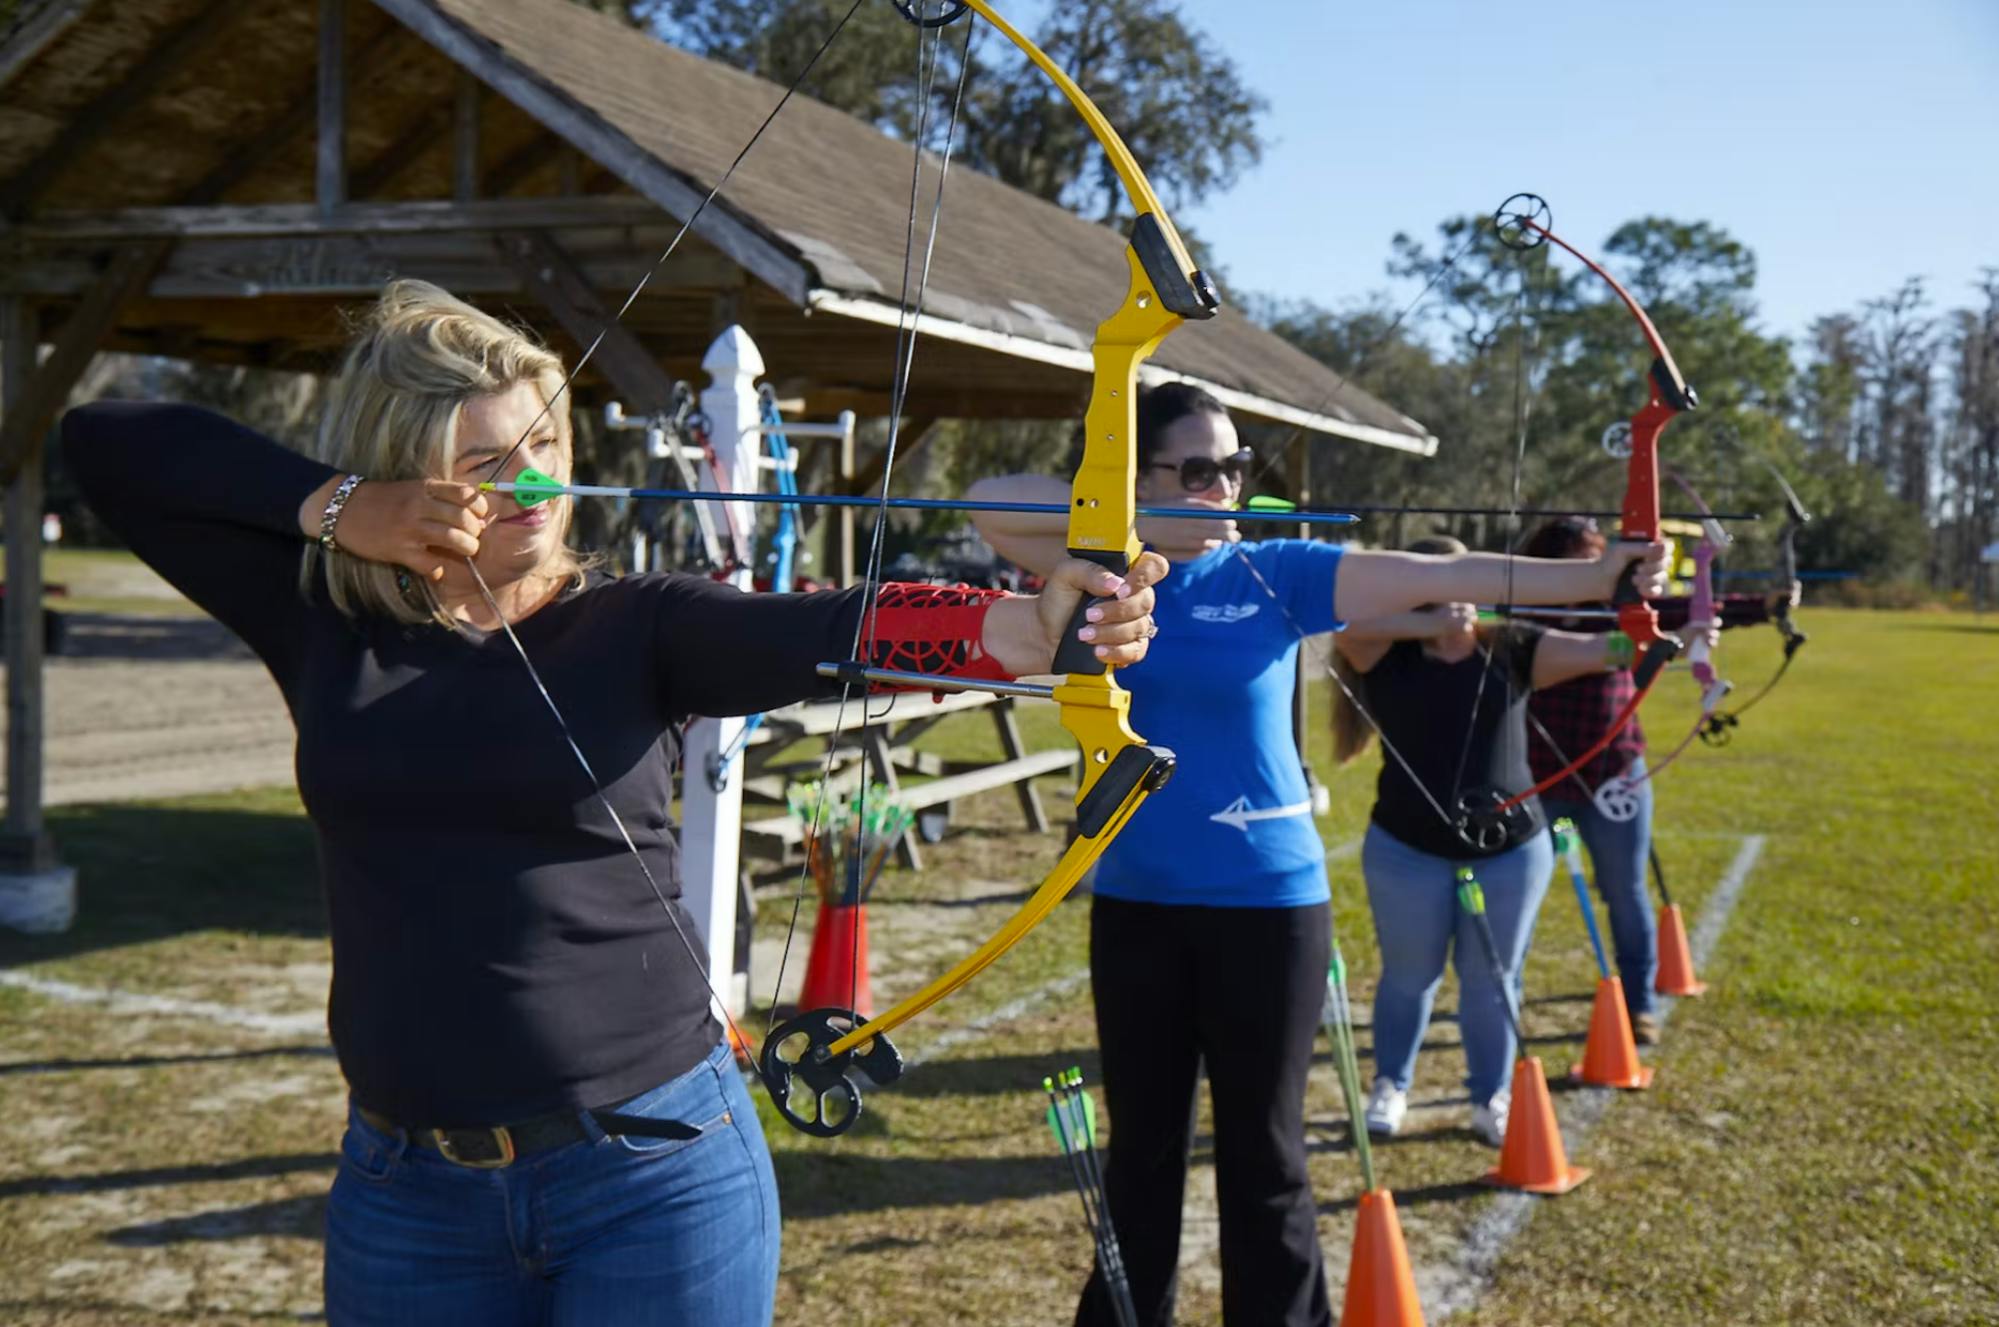
[[[688,220],[682,222],[660,258],[654,260],[654,264],[640,276],[638,284],[606,322],[604,330],[590,340],[536,420],[522,430],[514,448],[510,448],[508,454],[492,466],[488,482],[496,482],[502,474],[506,474],[508,464],[528,442],[534,430],[548,418],[564,394],[572,390],[578,374],[604,344],[612,326],[624,318],[638,296],[646,290],[652,276],[660,272],[668,258],[672,258],[700,216],[722,194],[730,178],[748,158],[750,150],[770,130],[786,104],[790,104],[804,78],[840,36],[848,20],[852,20],[852,16],[860,10],[862,2],[864,0],[856,0],[854,6],[848,8],[846,14],[834,24],[812,58],[804,64],[804,68],[800,68],[792,84],[778,98],[770,114],[722,172],[722,178],[716,180]],[[1083,90],[1061,68],[1057,68],[1045,52],[1003,20],[990,4],[986,4],[986,0],[948,0],[940,6],[924,6],[916,0],[894,0],[894,4],[898,12],[902,12],[902,16],[914,22],[922,32],[944,28],[972,14],[992,24],[1001,36],[1019,48],[1021,54],[1027,56],[1027,60],[1039,68],[1075,108],[1091,136],[1103,148],[1125,196],[1131,202],[1133,222],[1125,242],[1125,296],[1115,312],[1097,328],[1091,342],[1091,390],[1089,406],[1085,410],[1085,444],[1081,466],[1077,468],[1073,482],[1067,532],[1071,556],[1085,558],[1113,574],[1123,576],[1141,552],[1135,534],[1137,512],[1133,496],[1137,476],[1137,370],[1159,346],[1159,342],[1163,342],[1165,336],[1171,334],[1181,322],[1187,318],[1211,318],[1219,308],[1219,296],[1215,294],[1209,278],[1189,258],[1179,232],[1173,228],[1157,194],[1145,180],[1143,170],[1137,166],[1115,128],[1111,128],[1089,96],[1083,94]],[[960,66],[958,100],[952,108],[952,130],[956,130],[958,108],[964,98],[964,76],[970,72],[970,40],[972,32],[968,28],[966,58]],[[924,84],[924,114],[928,114],[928,78],[934,76],[942,64],[938,42],[932,42],[926,54],[926,42],[920,40],[918,58],[920,70],[928,70],[920,72],[920,84]],[[928,288],[930,258],[936,248],[938,218],[942,214],[944,200],[944,172],[950,164],[952,138],[948,134],[938,174],[938,196],[930,218],[930,234],[922,254],[922,274],[916,278],[916,300],[912,312],[910,286],[918,248],[918,198],[924,168],[924,138],[926,130],[920,122],[916,134],[916,168],[912,172],[910,226],[904,254],[904,316],[900,318],[898,328],[890,438],[886,444],[886,464],[882,474],[882,504],[876,518],[874,538],[870,540],[868,576],[864,584],[864,594],[870,596],[870,600],[864,604],[860,616],[862,620],[856,626],[850,660],[844,664],[826,664],[820,671],[842,681],[842,719],[848,695],[856,687],[874,683],[904,687],[930,685],[934,689],[990,689],[1009,695],[1047,695],[1059,707],[1063,727],[1081,745],[1081,775],[1075,791],[1077,835],[1049,875],[1033,889],[1021,909],[1007,919],[996,935],[982,943],[972,955],[956,963],[950,971],[884,1015],[864,1021],[852,1009],[812,1009],[768,1031],[762,1053],[756,1057],[758,1077],[764,1081],[778,1113],[784,1115],[788,1123],[822,1137],[846,1133],[860,1117],[862,1093],[856,1073],[864,1073],[874,1083],[888,1083],[900,1077],[904,1067],[902,1055],[890,1043],[888,1033],[924,1009],[936,1005],[952,991],[960,989],[966,981],[1013,947],[1013,943],[1033,929],[1049,911],[1053,911],[1055,903],[1059,903],[1075,887],[1081,875],[1097,861],[1097,857],[1101,857],[1111,839],[1115,839],[1115,835],[1131,819],[1131,813],[1139,807],[1139,803],[1143,803],[1143,799],[1159,787],[1173,769],[1171,751],[1145,743],[1133,731],[1129,723],[1129,695],[1115,683],[1109,667],[1095,658],[1095,652],[1087,644],[1075,640],[1075,634],[1087,624],[1087,612],[1093,602],[1079,604],[1065,628],[1053,662],[1053,671],[1059,675],[1059,681],[1053,685],[978,683],[926,673],[890,673],[870,667],[868,664],[870,650],[864,650],[864,646],[872,648],[874,644],[872,596],[880,590],[888,486],[894,470],[898,430],[904,416],[902,406],[906,402],[910,370],[914,364],[916,330],[922,316],[924,290]],[[526,667],[536,691],[570,747],[570,753],[576,757],[578,767],[590,781],[596,803],[618,829],[620,839],[638,863],[652,895],[672,921],[688,961],[702,973],[714,1007],[730,1023],[738,1045],[748,1047],[750,1041],[738,1027],[728,1003],[716,991],[714,979],[708,975],[706,961],[696,947],[694,937],[688,933],[680,911],[674,907],[632,833],[626,829],[624,817],[606,795],[604,781],[592,767],[590,757],[576,739],[562,707],[544,683],[540,669],[534,665],[534,660],[514,634],[512,624],[502,612],[484,576],[480,576],[478,566],[470,564],[470,560],[468,566],[472,568],[474,582],[478,584],[488,610],[500,622],[500,630],[512,644],[514,654]],[[832,745],[838,745],[838,731],[830,743],[830,761]],[[822,781],[822,785],[826,781]],[[796,925],[798,907],[794,905],[792,933],[796,933]],[[790,941],[792,935],[786,937],[786,953],[790,953]]]

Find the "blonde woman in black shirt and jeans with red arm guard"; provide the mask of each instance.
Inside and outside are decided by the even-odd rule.
[[[258,652],[298,725],[352,1095],[336,1327],[772,1315],[778,1193],[676,901],[672,769],[690,713],[822,693],[866,592],[592,572],[568,504],[478,490],[570,474],[562,386],[516,328],[398,282],[318,458],[188,406],[64,420],[96,512]],[[1093,594],[1079,636],[1133,664],[1163,570],[1067,562],[1039,598],[922,608],[886,588],[874,660],[946,640],[958,671],[1047,671]]]

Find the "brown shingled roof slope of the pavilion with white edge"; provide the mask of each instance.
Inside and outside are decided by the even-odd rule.
[[[378,2],[406,22],[436,8],[468,40],[492,42],[552,94],[574,98],[704,192],[784,92],[566,0]],[[468,48],[462,58],[472,54]],[[722,228],[752,230],[798,264],[806,304],[894,322],[908,198],[908,144],[796,96],[738,168],[704,234],[730,250]],[[1119,232],[958,166],[924,332],[1087,368],[1095,324],[1123,296],[1121,252]],[[760,276],[782,288],[790,274]],[[1421,424],[1229,308],[1167,338],[1155,366],[1149,376],[1197,378],[1255,416],[1405,450],[1435,448]]]

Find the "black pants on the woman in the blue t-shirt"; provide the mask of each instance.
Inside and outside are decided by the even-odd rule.
[[[1331,909],[1095,899],[1089,977],[1109,1105],[1111,1223],[1139,1323],[1169,1327],[1201,1065],[1215,1103],[1221,1315],[1333,1321],[1305,1175],[1305,1071],[1325,1005]],[[1111,1327],[1093,1273],[1077,1327]]]

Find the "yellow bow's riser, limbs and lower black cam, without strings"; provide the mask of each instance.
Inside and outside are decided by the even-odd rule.
[[[1179,232],[1131,158],[1117,130],[1075,82],[984,0],[964,0],[1013,42],[1083,118],[1101,144],[1133,208],[1125,242],[1127,286],[1117,310],[1091,342],[1089,406],[1083,412],[1083,456],[1069,504],[1069,556],[1123,576],[1143,546],[1137,538],[1137,370],[1187,318],[1211,318],[1219,308],[1213,284],[1187,256]],[[904,8],[910,14],[908,8]],[[860,1021],[850,1011],[820,1009],[776,1027],[764,1043],[764,1081],[778,1111],[808,1133],[844,1133],[860,1115],[858,1067],[876,1083],[902,1073],[902,1055],[888,1033],[924,1013],[1019,943],[1083,873],[1095,865],[1145,797],[1173,771],[1173,753],[1147,745],[1131,727],[1129,693],[1075,634],[1087,624],[1089,602],[1075,608],[1055,652],[1061,681],[1053,699],[1061,725],[1081,747],[1075,791],[1077,837],[1027,901],[986,943],[950,971],[902,999],[880,1017]],[[816,1097],[812,1111],[792,1107],[794,1085]],[[828,1101],[842,1109],[830,1113]]]

